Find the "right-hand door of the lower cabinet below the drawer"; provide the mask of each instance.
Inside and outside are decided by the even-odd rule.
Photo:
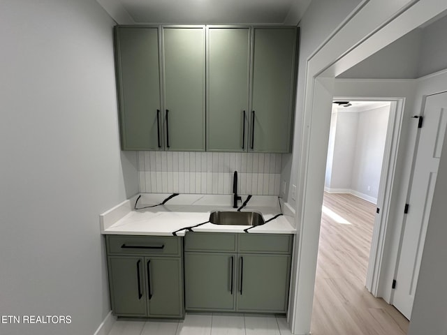
[[[182,259],[145,258],[148,315],[183,318]]]

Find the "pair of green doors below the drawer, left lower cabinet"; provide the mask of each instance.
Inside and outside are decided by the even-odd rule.
[[[117,316],[184,318],[182,258],[109,256]]]

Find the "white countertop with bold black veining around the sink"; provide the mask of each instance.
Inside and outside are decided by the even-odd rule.
[[[170,194],[141,193],[138,207],[159,204]],[[101,234],[131,234],[131,235],[170,235],[177,231],[177,236],[184,236],[186,228],[205,223],[212,211],[236,211],[230,204],[233,195],[177,195],[166,204],[146,209],[134,209],[135,196],[122,204],[101,214]],[[242,195],[242,202],[247,195]],[[239,206],[241,202],[238,202]],[[258,225],[248,230],[249,233],[295,234],[293,227],[293,213],[288,207],[283,207],[284,215],[274,220]],[[284,209],[286,209],[284,211]],[[269,195],[254,195],[242,211],[257,211],[263,215],[265,221],[277,214],[281,214],[277,197]],[[205,223],[194,232],[244,232],[247,225],[214,225]]]

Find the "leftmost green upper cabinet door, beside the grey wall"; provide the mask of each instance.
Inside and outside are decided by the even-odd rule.
[[[123,150],[161,149],[159,30],[115,30]]]

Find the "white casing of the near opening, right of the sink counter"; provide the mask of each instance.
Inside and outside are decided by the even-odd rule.
[[[301,145],[295,149],[300,163],[293,171],[299,230],[289,311],[293,334],[310,332],[330,128],[324,111],[332,104],[335,77],[445,10],[447,3],[436,0],[362,1],[305,62]]]

